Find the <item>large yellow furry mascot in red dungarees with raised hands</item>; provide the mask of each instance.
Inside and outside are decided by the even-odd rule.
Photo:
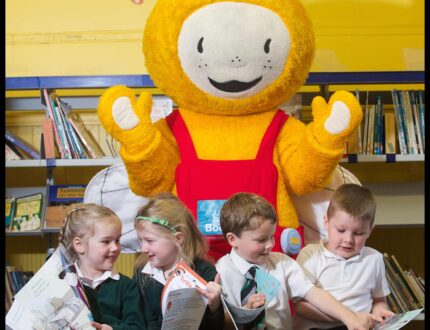
[[[175,192],[215,259],[230,250],[219,209],[240,191],[275,206],[274,251],[297,254],[303,228],[290,195],[328,183],[361,121],[360,105],[343,91],[328,103],[316,97],[307,125],[278,110],[305,82],[314,47],[296,0],[159,0],[144,31],[145,64],[178,109],[152,123],[147,93],[136,100],[114,86],[100,99],[100,121],[121,143],[132,191]]]

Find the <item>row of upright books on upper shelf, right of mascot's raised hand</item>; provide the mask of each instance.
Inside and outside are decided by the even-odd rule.
[[[393,89],[391,96],[389,105],[384,106],[381,96],[369,104],[367,92],[363,121],[346,144],[347,154],[424,154],[424,92]]]

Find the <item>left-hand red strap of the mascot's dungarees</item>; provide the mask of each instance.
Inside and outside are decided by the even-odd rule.
[[[166,121],[176,138],[181,159],[198,159],[190,132],[188,131],[188,127],[179,110],[174,110],[170,115],[168,115],[166,117]]]

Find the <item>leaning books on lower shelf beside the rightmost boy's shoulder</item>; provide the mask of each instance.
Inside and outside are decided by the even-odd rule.
[[[411,268],[400,266],[394,255],[384,253],[385,276],[391,293],[388,305],[395,313],[424,308],[425,282]]]

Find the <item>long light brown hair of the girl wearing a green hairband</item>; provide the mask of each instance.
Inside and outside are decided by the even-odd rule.
[[[178,255],[186,264],[193,265],[195,258],[209,260],[206,256],[208,251],[206,240],[199,232],[192,213],[172,193],[160,193],[149,199],[148,204],[139,209],[137,216],[166,220],[176,232],[181,232],[184,235],[184,241],[181,246],[178,246]],[[139,230],[147,224],[148,221],[136,220],[134,227]],[[159,227],[159,232],[164,237],[175,239],[171,230],[156,223],[154,225]],[[147,256],[141,254],[136,260],[135,268],[145,265],[147,261]]]

